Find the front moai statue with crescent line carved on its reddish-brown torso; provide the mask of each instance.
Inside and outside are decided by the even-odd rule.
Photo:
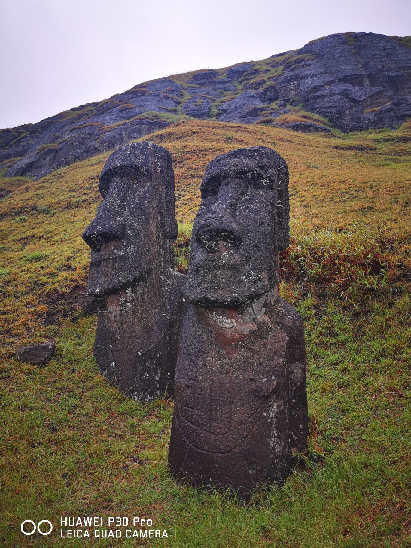
[[[287,164],[267,147],[214,158],[201,184],[184,289],[168,463],[248,498],[307,447],[305,343],[278,296],[289,245]]]

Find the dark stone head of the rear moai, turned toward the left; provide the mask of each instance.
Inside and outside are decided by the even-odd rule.
[[[178,226],[168,150],[149,141],[119,147],[102,169],[99,189],[103,201],[83,233],[92,248],[87,292],[109,295],[173,268]]]

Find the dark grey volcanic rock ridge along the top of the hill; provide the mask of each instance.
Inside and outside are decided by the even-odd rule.
[[[20,158],[8,177],[41,177],[168,127],[153,120],[153,112],[181,109],[200,119],[216,112],[221,122],[253,124],[267,117],[276,124],[287,106],[302,105],[349,132],[397,127],[411,117],[410,101],[411,49],[384,35],[341,33],[264,61],[146,82],[107,101],[0,130],[0,163]]]

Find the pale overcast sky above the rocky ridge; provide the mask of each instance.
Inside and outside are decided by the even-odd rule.
[[[0,0],[0,128],[349,31],[409,36],[411,1]]]

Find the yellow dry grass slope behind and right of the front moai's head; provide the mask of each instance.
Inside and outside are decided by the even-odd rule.
[[[173,155],[179,222],[193,220],[212,158],[259,145],[272,147],[287,161],[292,222],[347,229],[361,221],[398,230],[409,219],[411,129],[335,137],[261,125],[180,122],[150,139]]]

